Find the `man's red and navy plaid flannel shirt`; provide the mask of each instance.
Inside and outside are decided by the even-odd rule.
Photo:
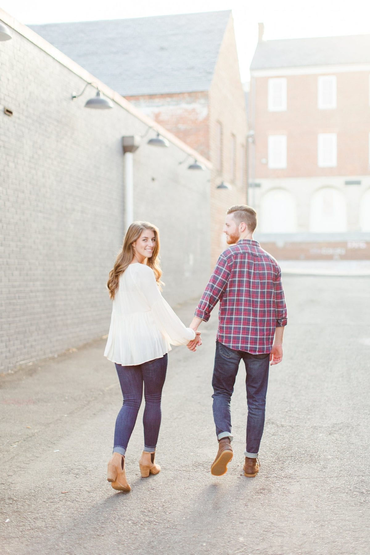
[[[254,355],[271,352],[287,311],[280,266],[258,241],[241,239],[220,255],[195,316],[208,321],[217,301],[218,341]]]

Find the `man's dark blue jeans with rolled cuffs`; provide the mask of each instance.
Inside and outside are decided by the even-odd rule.
[[[231,436],[230,401],[241,359],[244,360],[247,390],[247,445],[245,456],[257,457],[263,425],[265,424],[266,391],[268,382],[269,353],[252,355],[235,351],[216,342],[215,367],[212,377],[213,417],[217,438]]]

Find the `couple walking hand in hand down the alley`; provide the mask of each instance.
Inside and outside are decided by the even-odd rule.
[[[162,297],[159,265],[159,231],[147,222],[130,225],[113,270],[108,289],[113,310],[104,356],[115,362],[122,394],[115,423],[113,456],[108,462],[108,482],[114,490],[130,491],[125,455],[141,399],[144,451],[139,460],[141,476],[158,474],[155,448],[161,422],[161,393],[170,345],[201,345],[198,327],[209,320],[220,301],[219,328],[212,377],[213,415],[219,449],[211,465],[222,476],[232,459],[230,401],[241,359],[246,369],[247,429],[244,473],[254,477],[265,423],[269,365],[282,360],[282,339],[287,313],[276,260],[253,239],[256,211],[231,206],[224,233],[227,248],[217,260],[190,327],[185,327]]]

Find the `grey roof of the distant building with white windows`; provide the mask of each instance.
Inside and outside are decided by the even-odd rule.
[[[251,70],[370,63],[370,34],[261,41]]]

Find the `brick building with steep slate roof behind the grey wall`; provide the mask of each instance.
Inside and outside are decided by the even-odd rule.
[[[204,209],[211,211],[215,261],[225,244],[225,211],[245,203],[247,191],[247,118],[231,12],[32,28],[211,160]],[[217,189],[222,181],[230,188]]]

